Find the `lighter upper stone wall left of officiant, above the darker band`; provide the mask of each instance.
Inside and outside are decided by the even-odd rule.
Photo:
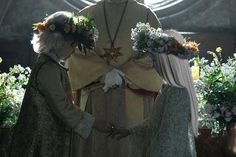
[[[32,23],[42,21],[46,14],[73,9],[58,0],[2,0],[0,10],[1,39],[30,39]]]

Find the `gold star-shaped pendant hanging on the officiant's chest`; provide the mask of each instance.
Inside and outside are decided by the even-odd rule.
[[[106,59],[107,64],[110,64],[110,62],[113,60],[114,62],[118,62],[117,58],[120,56],[123,56],[120,52],[121,47],[111,47],[111,48],[103,48],[105,51],[104,55],[102,55],[103,58]]]

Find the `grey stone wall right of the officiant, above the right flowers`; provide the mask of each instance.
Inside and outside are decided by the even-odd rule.
[[[232,56],[236,47],[235,0],[196,0],[189,7],[168,16],[160,16],[163,28],[174,28],[199,42],[202,56],[208,50],[223,48],[223,57]],[[156,12],[158,16],[158,11]],[[160,13],[161,15],[161,13]]]

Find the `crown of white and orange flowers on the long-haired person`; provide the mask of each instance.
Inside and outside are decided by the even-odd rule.
[[[181,35],[174,30],[169,30],[171,33],[167,34],[161,28],[155,29],[149,23],[139,22],[131,31],[131,40],[134,41],[133,49],[141,54],[167,53],[189,59],[199,51],[199,44],[194,41],[184,41],[183,44],[177,41],[171,34]]]

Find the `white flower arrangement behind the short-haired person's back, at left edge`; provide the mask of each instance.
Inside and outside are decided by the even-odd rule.
[[[16,123],[30,72],[29,67],[15,65],[8,73],[0,73],[0,127]]]

